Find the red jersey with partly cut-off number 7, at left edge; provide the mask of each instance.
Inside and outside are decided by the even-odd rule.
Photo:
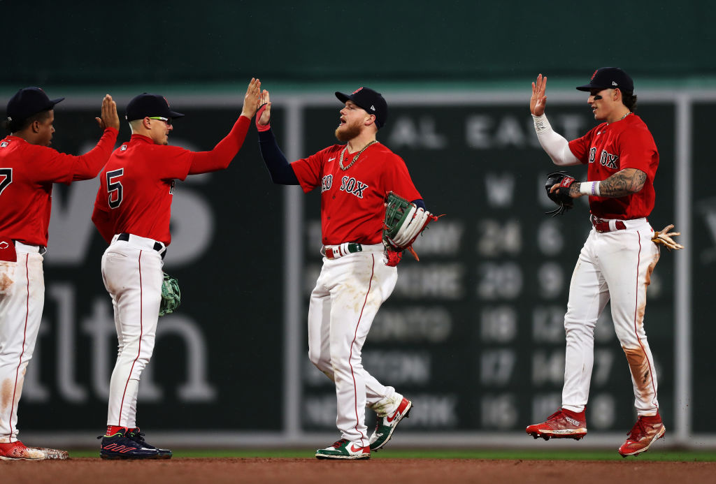
[[[69,185],[97,176],[117,141],[107,128],[100,142],[76,157],[9,136],[0,142],[0,236],[47,246],[52,184]]]

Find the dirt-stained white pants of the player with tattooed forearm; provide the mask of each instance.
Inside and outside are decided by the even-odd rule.
[[[627,355],[639,415],[656,415],[657,372],[644,332],[647,286],[659,261],[647,219],[624,220],[627,229],[589,232],[574,267],[564,316],[566,355],[562,407],[584,410],[594,365],[594,327],[611,300],[616,337]]]

